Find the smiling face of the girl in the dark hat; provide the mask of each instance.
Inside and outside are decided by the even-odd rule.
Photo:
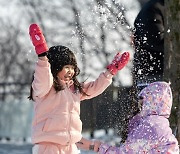
[[[58,78],[62,81],[68,82],[74,76],[74,66],[73,65],[65,65],[63,69],[57,74]]]

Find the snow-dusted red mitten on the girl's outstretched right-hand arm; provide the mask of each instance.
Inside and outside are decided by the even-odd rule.
[[[110,71],[112,75],[116,75],[119,70],[121,70],[129,61],[130,54],[129,52],[124,52],[121,54],[120,52],[114,57],[111,64],[107,66],[107,69]]]

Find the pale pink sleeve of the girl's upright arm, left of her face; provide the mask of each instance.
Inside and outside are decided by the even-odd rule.
[[[50,64],[47,60],[40,60],[35,67],[34,80],[32,82],[33,97],[42,98],[51,89],[53,84],[53,77],[50,70]]]

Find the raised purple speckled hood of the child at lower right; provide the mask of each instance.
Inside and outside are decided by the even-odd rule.
[[[172,107],[172,92],[169,83],[151,83],[139,93],[139,96],[143,98],[141,116],[160,115],[169,118]]]

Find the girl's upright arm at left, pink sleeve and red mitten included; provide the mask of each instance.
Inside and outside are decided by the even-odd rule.
[[[49,49],[43,32],[37,24],[30,25],[29,35],[36,54],[38,55],[38,62],[35,67],[34,80],[32,83],[33,96],[41,98],[49,92],[53,84],[50,64],[46,57]]]

